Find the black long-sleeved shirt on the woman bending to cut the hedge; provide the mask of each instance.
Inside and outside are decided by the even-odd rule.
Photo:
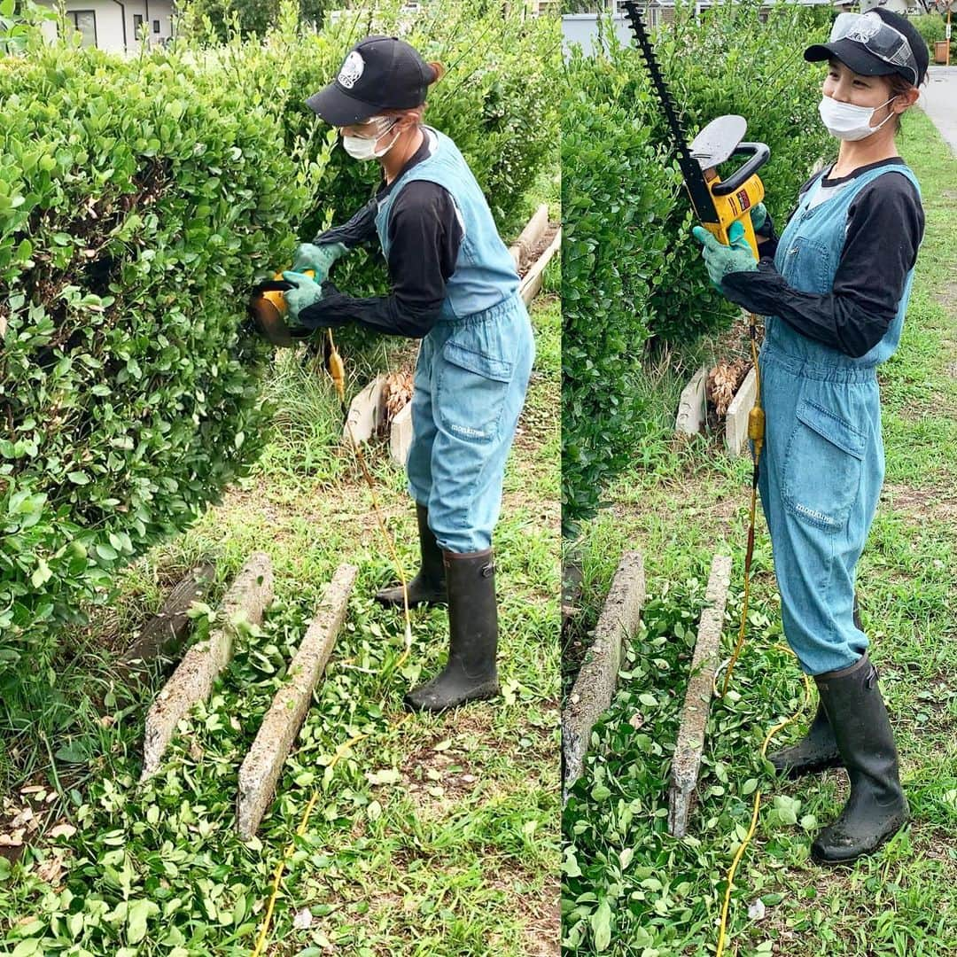
[[[422,145],[399,176],[432,155],[434,136],[425,130]],[[383,183],[372,199],[342,226],[318,235],[319,244],[342,242],[351,248],[375,238],[375,215],[394,187]],[[438,320],[445,284],[456,270],[464,230],[455,200],[447,189],[427,180],[408,183],[389,212],[389,296],[358,298],[330,290],[300,312],[300,323],[313,327],[353,321],[389,335],[420,339]]]

